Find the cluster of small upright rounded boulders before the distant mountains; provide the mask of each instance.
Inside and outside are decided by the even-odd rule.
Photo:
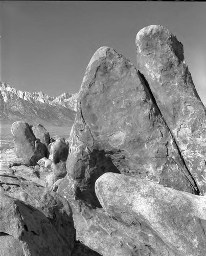
[[[45,177],[45,187],[51,188],[55,181],[66,175],[68,141],[58,135],[50,138],[49,132],[41,124],[29,125],[16,121],[11,126],[14,151],[17,161],[10,167],[18,165],[35,166],[36,172],[51,173]],[[41,168],[41,169],[40,169]],[[40,176],[40,174],[39,174]]]

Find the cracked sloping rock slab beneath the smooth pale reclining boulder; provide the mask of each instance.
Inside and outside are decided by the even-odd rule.
[[[55,184],[58,187],[57,193],[66,198],[72,207],[76,236],[84,245],[103,256],[168,255],[167,250],[163,249],[167,247],[160,239],[156,242],[159,254],[151,254],[154,252],[150,245],[153,233],[143,223],[140,226],[135,222],[135,228],[131,218],[123,223],[109,216],[102,208],[92,208],[81,200],[75,200],[72,180],[62,179]],[[158,249],[159,245],[161,248]]]

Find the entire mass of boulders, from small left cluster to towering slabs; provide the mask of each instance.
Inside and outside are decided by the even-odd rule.
[[[16,156],[47,175],[43,186],[0,176],[0,252],[206,255],[205,106],[168,29],[139,31],[136,57],[137,69],[95,52],[67,140],[12,125]]]

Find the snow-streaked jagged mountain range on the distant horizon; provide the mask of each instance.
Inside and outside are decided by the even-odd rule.
[[[62,93],[51,97],[43,92],[23,92],[0,82],[0,120],[52,123],[73,123],[78,93]]]

